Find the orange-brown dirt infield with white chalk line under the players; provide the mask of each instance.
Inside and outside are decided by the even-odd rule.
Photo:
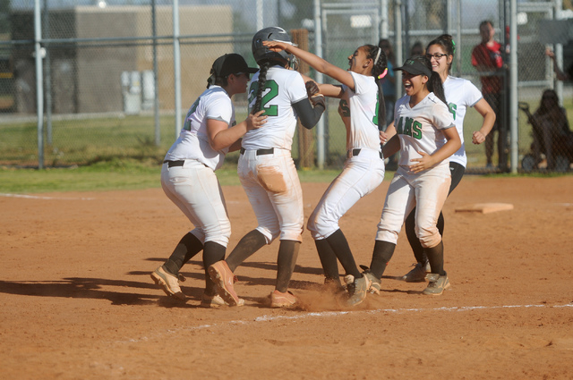
[[[310,215],[328,183],[303,185]],[[389,182],[343,218],[368,265]],[[240,187],[224,188],[229,247],[255,226]],[[512,210],[457,213],[473,203]],[[308,232],[291,283],[304,308],[267,308],[278,242],[237,269],[241,308],[198,308],[201,258],[182,273],[186,303],[150,280],[190,228],[160,189],[0,197],[0,378],[573,378],[573,176],[466,176],[444,214],[451,290],[404,283],[404,232],[381,296],[344,310],[321,290]]]

